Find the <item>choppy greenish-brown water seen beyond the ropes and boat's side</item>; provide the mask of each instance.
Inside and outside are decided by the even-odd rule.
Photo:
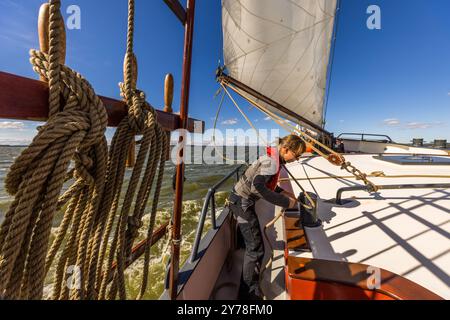
[[[4,219],[4,214],[8,209],[13,198],[6,192],[4,188],[4,179],[7,175],[8,169],[13,163],[14,159],[20,155],[25,147],[9,147],[0,146],[0,223]],[[197,151],[197,152],[196,152]],[[198,152],[200,151],[200,152]],[[249,161],[254,160],[258,155],[258,150],[256,147],[244,148],[235,147],[232,150],[228,149],[228,153],[225,150],[219,150],[220,153],[226,154],[227,156],[233,156],[233,158],[238,160],[248,159]],[[262,153],[262,149],[259,153]],[[234,155],[233,155],[234,153]],[[206,155],[203,159],[202,156]],[[203,206],[203,201],[208,192],[208,189],[212,187],[216,182],[221,180],[234,168],[237,164],[205,164],[213,163],[214,159],[217,161],[223,160],[219,153],[214,154],[210,152],[207,148],[188,148],[186,153],[186,158],[191,163],[202,163],[203,164],[186,164],[185,177],[186,181],[184,183],[184,197],[183,197],[183,211],[182,211],[182,246],[181,246],[181,261],[185,261],[192,249],[192,244],[195,237],[195,230],[198,223],[198,218],[201,213]],[[222,161],[223,162],[223,161]],[[158,213],[156,218],[155,229],[168,221],[170,218],[172,208],[173,208],[173,189],[172,189],[172,177],[175,172],[175,165],[168,161],[166,163],[166,170],[164,174],[164,180],[161,187],[161,195],[158,206]],[[125,181],[127,181],[131,176],[131,170],[127,169],[125,175]],[[234,179],[230,179],[227,183],[219,189],[216,193],[216,208],[217,214],[220,213],[224,206],[225,199],[229,194],[229,190],[235,183]],[[126,182],[122,189],[122,196],[126,190]],[[149,199],[149,204],[147,205],[147,212],[150,210],[151,200]],[[61,221],[61,214],[55,215],[52,229],[52,237],[50,241],[53,240],[56,234],[58,225]],[[144,226],[141,228],[140,234],[136,243],[145,239],[147,234],[147,226],[149,222],[149,215],[144,216]],[[207,232],[210,228],[209,219],[206,222],[204,232]],[[149,282],[147,286],[147,292],[144,296],[145,299],[158,299],[164,290],[165,281],[165,268],[170,256],[170,246],[169,239],[165,237],[161,239],[152,248],[151,262],[149,269]],[[138,259],[133,265],[131,265],[126,271],[126,281],[128,289],[128,298],[135,298],[140,290],[141,279],[142,279],[142,268],[144,259]],[[53,277],[51,271],[46,280],[46,292],[50,293]]]

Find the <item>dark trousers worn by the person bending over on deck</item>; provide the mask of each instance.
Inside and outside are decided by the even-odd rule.
[[[246,289],[250,296],[261,296],[259,273],[264,257],[264,243],[255,212],[255,201],[232,194],[230,196],[230,209],[237,219],[238,229],[245,243],[244,265],[242,268],[244,288],[247,287]]]

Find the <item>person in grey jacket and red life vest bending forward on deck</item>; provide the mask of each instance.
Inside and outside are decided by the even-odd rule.
[[[229,197],[229,206],[237,219],[238,229],[245,242],[241,299],[262,299],[259,272],[264,256],[264,244],[255,202],[258,199],[283,207],[296,208],[296,196],[279,187],[280,164],[297,160],[306,150],[296,135],[279,139],[277,147],[268,147],[267,155],[259,157],[244,172]]]

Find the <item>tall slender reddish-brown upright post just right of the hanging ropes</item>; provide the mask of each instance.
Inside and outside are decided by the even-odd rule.
[[[183,52],[183,74],[181,86],[180,101],[180,128],[186,129],[189,109],[189,87],[191,78],[192,62],[192,44],[194,36],[194,12],[195,0],[188,0],[186,9],[186,23],[184,33],[184,52]],[[180,132],[179,144],[185,145],[185,131]],[[178,154],[178,165],[175,177],[175,201],[172,215],[172,259],[170,260],[169,271],[169,291],[170,298],[175,300],[178,295],[178,271],[180,263],[180,244],[181,244],[181,209],[183,201],[183,182],[184,182],[184,150]]]

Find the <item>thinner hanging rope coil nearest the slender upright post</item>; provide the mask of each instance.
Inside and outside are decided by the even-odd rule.
[[[148,236],[151,237],[153,234],[157,204],[164,173],[165,157],[169,147],[167,135],[156,121],[156,115],[153,108],[145,101],[145,94],[136,89],[137,61],[133,53],[134,3],[134,0],[128,1],[127,52],[125,55],[124,83],[120,84],[121,95],[127,102],[129,111],[128,117],[123,119],[119,124],[111,145],[111,154],[120,154],[120,160],[115,163],[111,163],[109,173],[111,173],[111,175],[115,175],[117,172],[121,173],[116,176],[117,179],[115,182],[113,179],[111,180],[112,185],[120,186],[122,184],[123,171],[125,169],[124,160],[130,145],[132,145],[134,136],[136,134],[142,134],[143,137],[136,159],[136,164],[125,194],[122,210],[117,217],[117,228],[114,232],[114,238],[110,247],[105,270],[98,271],[100,274],[103,274],[103,279],[100,286],[101,299],[106,297],[106,287],[109,283],[109,273],[114,258],[117,260],[117,268],[115,269],[115,273],[113,275],[113,281],[108,292],[108,297],[110,299],[114,299],[118,292],[120,299],[126,298],[124,279],[125,263],[128,257],[130,257],[133,241],[136,239],[138,229],[142,225],[142,217],[145,206],[148,201],[154,179],[156,178],[156,186],[154,188],[154,196],[150,212]],[[146,164],[145,172],[140,179],[141,173],[144,170],[144,164]],[[140,188],[136,192],[138,185]],[[112,196],[110,197],[111,199],[108,201],[108,206],[110,206],[111,200],[113,200],[113,205],[108,217],[108,232],[104,235],[104,243],[107,243],[107,239],[110,236],[109,231],[114,223],[114,216],[117,210],[117,202],[119,200],[120,191],[120,188],[113,190],[111,193]],[[131,210],[132,204],[134,204],[133,210]],[[130,212],[132,212],[131,215]],[[103,246],[101,256],[105,256],[106,249],[106,245]],[[147,245],[145,250],[143,282],[139,298],[142,297],[146,289],[149,258],[150,246]]]

